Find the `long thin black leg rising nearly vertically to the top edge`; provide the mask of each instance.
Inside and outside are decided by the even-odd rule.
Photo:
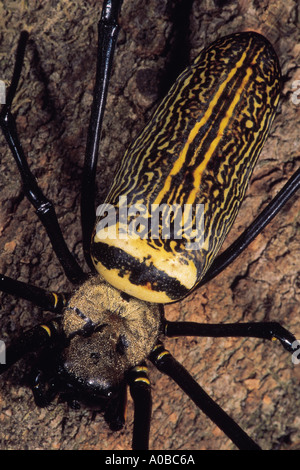
[[[86,262],[93,270],[90,244],[95,224],[95,176],[99,153],[103,115],[105,110],[113,55],[119,32],[118,14],[123,0],[105,0],[98,23],[98,49],[96,81],[82,178],[81,225],[83,251]]]

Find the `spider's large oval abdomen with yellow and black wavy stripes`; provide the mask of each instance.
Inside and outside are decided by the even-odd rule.
[[[197,285],[237,215],[280,80],[272,46],[253,32],[214,42],[180,75],[99,213],[91,255],[110,284],[151,302]]]

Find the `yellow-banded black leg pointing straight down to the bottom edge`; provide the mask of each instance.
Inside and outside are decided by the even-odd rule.
[[[132,450],[148,450],[152,399],[146,364],[133,367],[127,380],[134,403]]]

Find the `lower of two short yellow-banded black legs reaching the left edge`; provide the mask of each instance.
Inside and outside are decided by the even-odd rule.
[[[0,364],[0,374],[8,370],[15,362],[25,354],[51,345],[58,341],[60,328],[58,323],[51,322],[37,325],[22,333],[14,342],[6,348],[5,363]]]

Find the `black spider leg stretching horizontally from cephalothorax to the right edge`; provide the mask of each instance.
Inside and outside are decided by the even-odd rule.
[[[206,324],[166,321],[165,336],[210,336],[214,338],[239,336],[268,340],[278,339],[289,352],[293,352],[292,344],[296,341],[295,336],[277,322]]]

